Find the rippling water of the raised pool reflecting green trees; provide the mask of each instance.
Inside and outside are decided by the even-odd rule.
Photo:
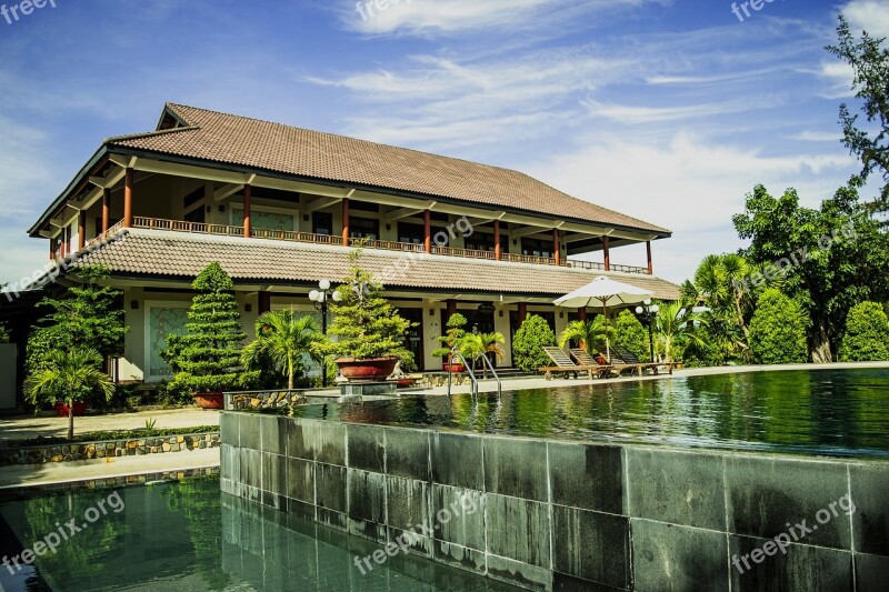
[[[889,456],[889,370],[812,370],[318,405],[302,417],[487,433]]]

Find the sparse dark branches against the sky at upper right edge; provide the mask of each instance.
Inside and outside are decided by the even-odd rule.
[[[840,14],[837,27],[836,46],[827,49],[852,67],[855,77],[852,90],[862,102],[868,126],[859,127],[858,114],[851,114],[848,106],[840,106],[840,123],[842,124],[842,143],[849,152],[861,161],[861,172],[852,178],[851,187],[861,187],[875,172],[879,171],[883,187],[872,211],[889,211],[889,49],[885,38],[872,38],[867,31],[860,40],[852,37],[849,23]]]

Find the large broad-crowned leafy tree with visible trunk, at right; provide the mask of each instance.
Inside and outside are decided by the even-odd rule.
[[[832,361],[852,305],[889,294],[889,237],[853,188],[840,188],[816,210],[800,207],[792,189],[776,199],[757,185],[732,221],[738,235],[750,240],[743,255],[766,274],[780,277],[782,291],[811,320],[808,340],[816,363]]]

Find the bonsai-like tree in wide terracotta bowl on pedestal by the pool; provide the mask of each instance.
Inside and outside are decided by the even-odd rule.
[[[382,284],[361,269],[361,249],[349,253],[351,269],[337,288],[330,310],[334,318],[328,333],[339,338],[318,349],[331,354],[348,380],[381,381],[404,355],[404,333],[412,327],[382,297]]]

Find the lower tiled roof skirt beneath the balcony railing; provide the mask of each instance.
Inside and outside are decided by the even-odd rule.
[[[344,247],[131,229],[121,231],[77,264],[104,263],[116,273],[191,280],[208,263],[218,261],[237,283],[299,283],[344,277],[350,267],[350,251],[351,249]],[[598,275],[611,275],[619,281],[651,290],[655,298],[679,298],[678,285],[651,275],[632,273],[606,273],[371,249],[364,251],[361,265],[382,278],[390,289],[557,298],[585,285]]]

